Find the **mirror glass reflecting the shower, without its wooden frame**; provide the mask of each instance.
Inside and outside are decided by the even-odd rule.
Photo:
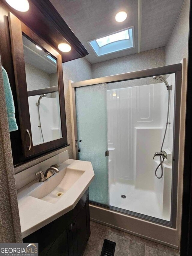
[[[22,35],[33,146],[62,138],[57,59]]]

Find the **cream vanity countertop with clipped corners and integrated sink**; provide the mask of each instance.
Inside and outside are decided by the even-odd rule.
[[[68,159],[58,169],[46,181],[38,177],[17,191],[22,238],[72,210],[94,178],[91,162]]]

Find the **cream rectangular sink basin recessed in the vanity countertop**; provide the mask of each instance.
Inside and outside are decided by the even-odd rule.
[[[56,203],[81,177],[84,171],[66,168],[54,174],[41,185],[34,189],[29,195],[49,203]]]

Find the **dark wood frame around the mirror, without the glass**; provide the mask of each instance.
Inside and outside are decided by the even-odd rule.
[[[51,45],[39,37],[35,32],[29,29],[24,23],[22,23],[12,13],[8,15],[11,50],[14,65],[14,74],[16,81],[16,93],[19,110],[19,123],[22,139],[22,150],[25,157],[37,155],[40,152],[46,152],[50,149],[60,148],[67,145],[67,128],[66,128],[66,116],[65,116],[65,102],[64,102],[64,86],[63,86],[63,71],[62,71],[62,56]],[[45,49],[51,55],[57,59],[57,72],[58,72],[58,88],[59,88],[59,101],[60,101],[60,116],[61,116],[61,131],[62,138],[52,140],[43,144],[33,146],[32,140],[30,142],[29,134],[32,138],[31,122],[29,115],[29,103],[27,92],[27,81],[24,61],[24,51],[22,34],[26,35],[33,42]],[[27,132],[29,130],[29,134]],[[29,146],[31,149],[29,150]]]

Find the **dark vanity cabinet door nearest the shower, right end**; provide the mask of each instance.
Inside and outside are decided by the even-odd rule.
[[[81,212],[76,217],[77,256],[81,256],[90,236],[89,202],[86,201]],[[75,256],[76,256],[75,255]]]

